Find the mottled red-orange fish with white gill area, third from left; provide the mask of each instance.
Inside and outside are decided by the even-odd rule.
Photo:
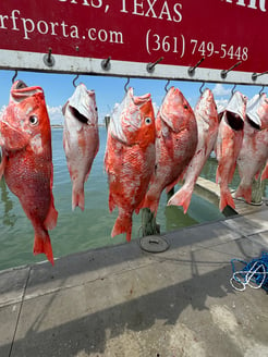
[[[109,209],[119,209],[112,237],[126,233],[131,241],[132,214],[138,213],[155,168],[155,138],[150,95],[134,97],[130,87],[111,116],[105,153]]]

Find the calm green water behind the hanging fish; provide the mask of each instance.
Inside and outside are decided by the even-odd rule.
[[[125,242],[123,234],[111,238],[111,230],[118,216],[117,209],[108,208],[108,183],[103,170],[107,132],[99,127],[100,148],[95,158],[90,175],[85,184],[85,210],[72,211],[72,185],[62,147],[62,128],[52,128],[53,196],[59,212],[58,224],[50,231],[54,258],[86,249]],[[203,176],[215,180],[217,163],[209,160]],[[237,180],[236,180],[237,181]],[[176,189],[178,187],[175,187]],[[162,194],[157,222],[161,233],[174,231],[202,222],[223,218],[218,207],[193,195],[186,214],[181,207],[167,207],[167,195]],[[142,214],[133,214],[132,238],[141,236]],[[45,255],[33,255],[34,230],[26,218],[17,197],[0,181],[0,270],[46,260]]]

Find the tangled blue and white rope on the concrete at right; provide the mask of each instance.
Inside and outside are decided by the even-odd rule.
[[[235,271],[235,262],[241,262],[245,267],[240,271]],[[233,275],[230,283],[235,290],[244,291],[246,285],[249,285],[254,288],[263,287],[266,292],[268,292],[268,253],[263,251],[260,258],[254,258],[248,263],[241,259],[232,259],[231,264]],[[233,281],[239,283],[239,286],[242,287],[235,286]],[[252,285],[252,282],[255,286]]]

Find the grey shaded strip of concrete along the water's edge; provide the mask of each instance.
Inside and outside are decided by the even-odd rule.
[[[185,251],[185,249],[188,249],[190,246],[204,247],[204,243],[207,247],[209,247],[219,244],[220,239],[222,242],[227,242],[246,237],[245,232],[240,230],[239,225],[237,227],[233,227],[232,225],[229,226],[229,224],[224,223],[228,221],[239,222],[239,220],[241,222],[240,224],[244,227],[248,227],[248,231],[253,230],[253,234],[261,231],[261,225],[258,224],[258,222],[255,221],[253,223],[246,217],[237,216],[237,218],[231,220],[226,219],[209,223],[202,223],[162,235],[171,243],[169,250],[178,249],[179,251]],[[73,254],[56,260],[53,267],[49,262],[34,264],[31,267],[29,284],[40,285],[49,280],[53,280],[53,282],[60,280],[59,285],[62,286],[66,279],[93,271],[96,272],[95,278],[99,278],[97,276],[97,272],[101,269],[103,270],[103,268],[111,268],[124,262],[135,261],[136,259],[141,259],[146,256],[147,254],[141,249],[138,242],[139,241],[136,238],[131,243]],[[242,247],[241,249],[243,250]],[[230,251],[230,254],[232,253]],[[249,257],[251,256],[248,256],[248,258]],[[25,269],[28,268],[29,267],[26,267]],[[11,270],[8,274],[3,271],[0,273],[0,276],[2,275],[3,279],[12,279],[12,274],[14,276],[17,275],[16,270]],[[4,278],[4,275],[8,276]],[[34,279],[32,279],[32,276],[34,276]],[[20,284],[7,284],[7,290],[15,291],[17,286],[20,286]],[[5,292],[8,292],[7,290]]]

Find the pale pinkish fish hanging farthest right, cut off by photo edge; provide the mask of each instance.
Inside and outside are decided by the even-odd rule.
[[[261,130],[263,128],[263,130]],[[235,197],[252,201],[252,183],[258,176],[268,158],[268,99],[256,95],[248,102],[244,124],[244,138],[237,157],[241,177]]]

